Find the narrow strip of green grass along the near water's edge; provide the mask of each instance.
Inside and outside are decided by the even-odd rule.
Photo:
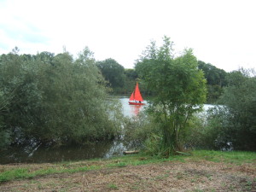
[[[140,166],[145,164],[157,164],[166,161],[196,162],[207,160],[222,162],[225,164],[241,166],[252,164],[256,168],[255,152],[220,152],[208,150],[195,150],[189,155],[175,155],[163,159],[144,154],[133,154],[115,157],[109,160],[82,160],[72,162],[58,162],[51,164],[9,164],[0,165],[0,182],[9,182],[17,179],[32,179],[52,174],[88,172],[92,170],[112,169],[125,166]]]

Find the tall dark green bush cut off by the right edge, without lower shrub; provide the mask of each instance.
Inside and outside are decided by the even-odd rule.
[[[253,76],[252,76],[253,75]],[[256,76],[241,69],[230,73],[221,103],[225,106],[224,136],[237,150],[256,150]]]

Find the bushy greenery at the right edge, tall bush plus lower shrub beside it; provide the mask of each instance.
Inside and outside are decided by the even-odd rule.
[[[241,69],[229,73],[228,86],[219,102],[208,112],[201,130],[201,146],[213,149],[256,149],[256,78]]]

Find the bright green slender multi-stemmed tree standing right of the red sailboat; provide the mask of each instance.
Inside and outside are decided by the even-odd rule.
[[[149,111],[160,123],[160,152],[169,155],[183,149],[181,137],[192,114],[206,101],[207,89],[192,49],[174,57],[170,38],[163,39],[160,48],[151,42],[137,61],[136,71],[154,94]]]

